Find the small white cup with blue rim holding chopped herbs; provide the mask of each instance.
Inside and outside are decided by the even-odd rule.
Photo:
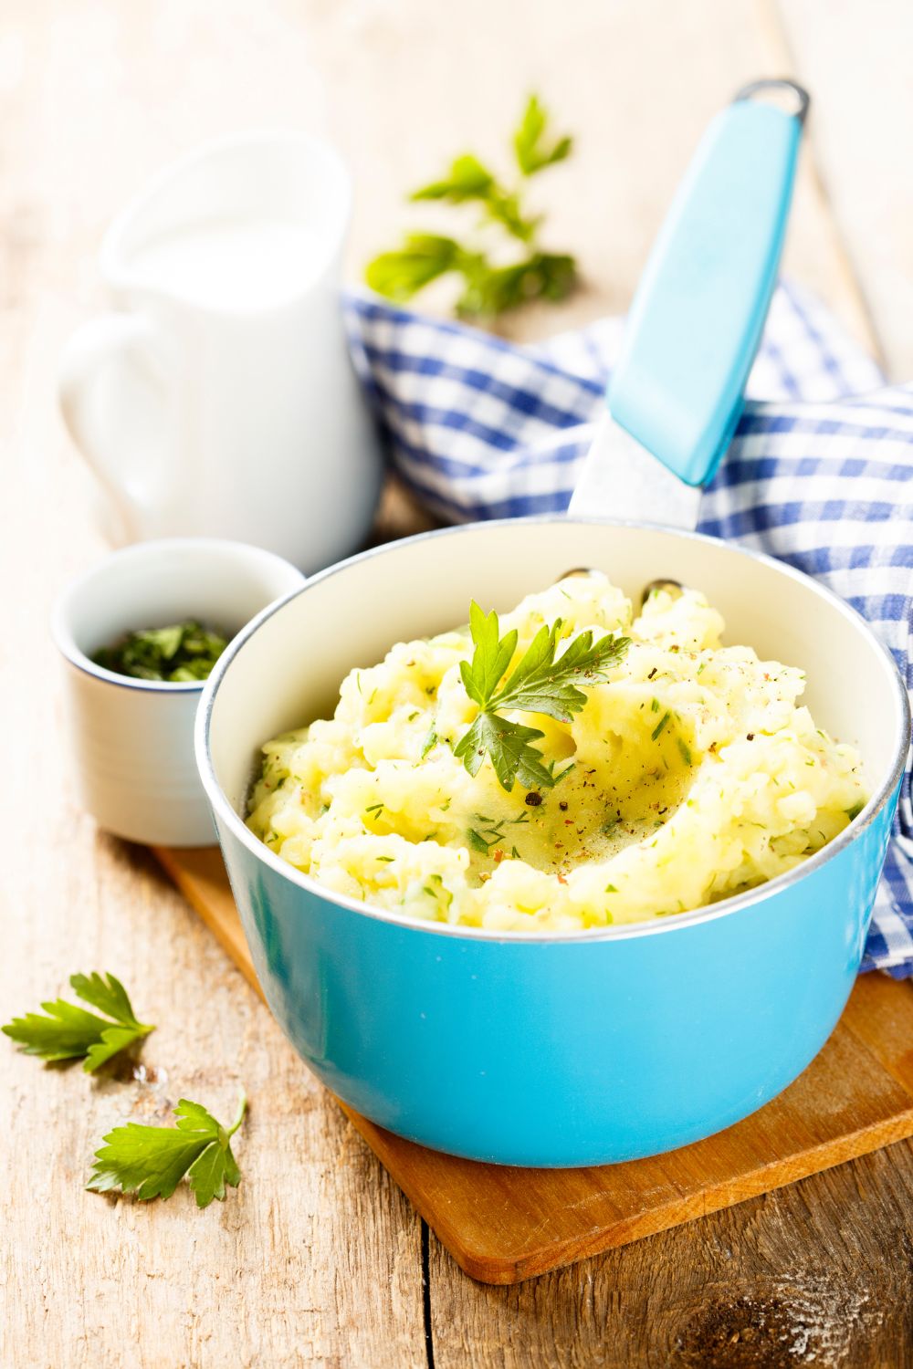
[[[167,538],[115,552],[56,604],[66,705],[83,806],[100,827],[151,846],[211,846],[215,831],[193,757],[204,682],[168,684],[96,665],[125,632],[200,619],[233,637],[304,583],[272,552],[216,538]]]

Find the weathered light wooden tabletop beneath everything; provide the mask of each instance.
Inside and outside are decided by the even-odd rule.
[[[0,11],[0,1012],[114,969],[159,1023],[148,1077],[0,1046],[0,1364],[29,1369],[913,1365],[913,1146],[898,1144],[513,1288],[468,1280],[149,856],[100,835],[66,765],[47,620],[96,559],[55,364],[100,305],[94,252],[157,166],[245,126],[327,131],[357,186],[349,274],[401,193],[494,155],[537,88],[579,136],[553,242],[586,290],[511,324],[621,309],[699,131],[793,71],[814,119],[788,268],[913,374],[913,11],[892,0],[5,0]],[[197,1212],[85,1194],[101,1134],[244,1083],[244,1181]]]

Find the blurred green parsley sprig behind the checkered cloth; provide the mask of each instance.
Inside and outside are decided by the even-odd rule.
[[[457,314],[467,318],[494,318],[531,300],[557,303],[576,283],[576,261],[567,253],[545,252],[539,245],[543,216],[524,204],[530,177],[564,162],[572,151],[567,136],[548,133],[548,111],[531,94],[513,134],[513,159],[519,182],[506,185],[472,153],[456,157],[439,181],[415,190],[412,201],[437,200],[480,209],[480,227],[497,233],[498,259],[487,251],[480,234],[468,242],[437,233],[408,233],[396,252],[382,252],[367,267],[367,283],[400,304],[411,300],[431,281],[450,272],[463,278]],[[500,260],[505,246],[511,259]]]

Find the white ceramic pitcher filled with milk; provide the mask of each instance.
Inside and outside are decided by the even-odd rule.
[[[115,312],[68,342],[60,402],[115,542],[233,538],[304,571],[356,550],[382,461],[341,316],[350,197],[326,144],[250,133],[168,167],[112,223]]]

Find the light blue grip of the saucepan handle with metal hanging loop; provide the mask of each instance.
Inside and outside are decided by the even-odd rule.
[[[787,88],[787,114],[753,96]],[[634,297],[612,418],[689,485],[713,478],[742,411],[776,282],[809,105],[754,81],[706,130]]]

